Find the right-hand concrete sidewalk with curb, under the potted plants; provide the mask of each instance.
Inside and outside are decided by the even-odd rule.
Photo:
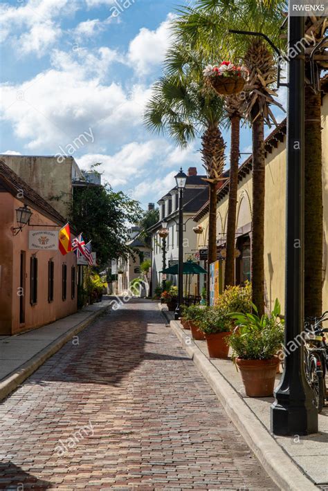
[[[319,415],[319,433],[311,436],[276,437],[270,432],[273,398],[249,398],[240,373],[230,360],[209,358],[206,341],[191,341],[190,331],[173,320],[160,305],[172,331],[208,380],[233,423],[271,478],[283,490],[328,490],[325,456],[328,444],[328,407]],[[276,385],[281,375],[277,375]],[[317,489],[318,489],[317,488]]]

